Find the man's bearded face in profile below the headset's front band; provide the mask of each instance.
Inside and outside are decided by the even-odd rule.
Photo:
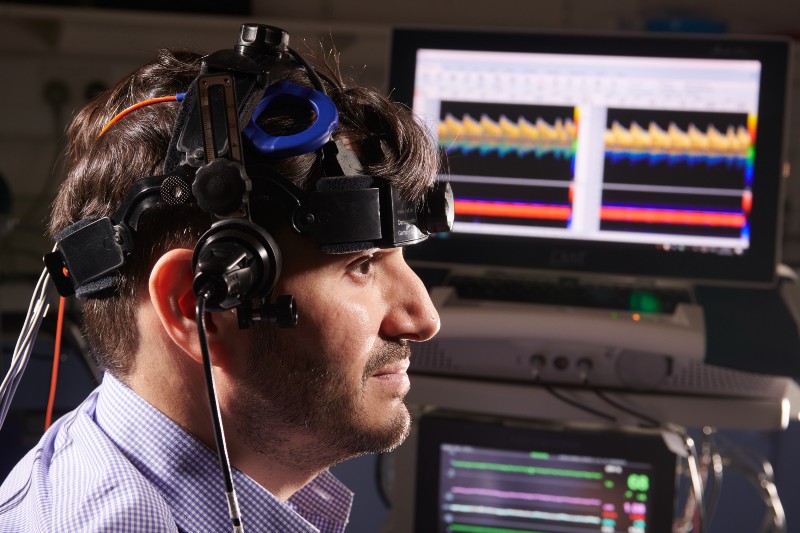
[[[428,293],[401,249],[325,255],[287,239],[275,294],[294,295],[298,325],[253,328],[238,431],[263,453],[299,443],[313,463],[390,450],[410,424],[408,342],[439,329]]]

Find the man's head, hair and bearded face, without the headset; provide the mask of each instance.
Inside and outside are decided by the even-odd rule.
[[[54,206],[53,236],[79,220],[110,216],[136,180],[163,171],[179,104],[138,109],[97,135],[130,105],[186,91],[201,61],[195,53],[162,51],[81,110],[68,131],[68,174]],[[387,180],[405,199],[419,200],[439,165],[420,124],[408,109],[373,90],[345,86],[324,64],[319,68],[338,110],[334,138],[358,154],[363,174]],[[283,77],[311,85],[301,69]],[[314,120],[307,109],[292,105],[270,109],[259,126],[273,135],[295,133]],[[322,177],[313,152],[261,158],[259,165],[255,172],[248,169],[254,182],[277,172],[309,190]],[[282,250],[284,268],[275,294],[293,294],[301,315],[296,329],[257,324],[230,339],[230,351],[241,354],[230,366],[231,375],[240,378],[231,406],[239,415],[238,433],[266,453],[281,446],[275,440],[286,434],[281,429],[305,428],[321,464],[398,444],[409,422],[402,403],[408,389],[407,343],[426,340],[438,329],[436,311],[402,249],[325,254],[290,229],[279,207],[256,201],[251,208],[254,221]],[[213,222],[195,204],[151,208],[141,215],[133,253],[116,287],[84,305],[85,329],[102,367],[123,380],[136,372],[131,354],[147,336],[137,327],[137,310],[153,299],[153,276],[156,271],[161,276],[157,286],[184,276],[163,269],[164,258],[174,257],[177,249],[191,250]]]

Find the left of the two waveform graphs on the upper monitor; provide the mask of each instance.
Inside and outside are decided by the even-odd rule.
[[[438,143],[462,180],[456,220],[568,228],[577,123],[573,107],[443,102]]]

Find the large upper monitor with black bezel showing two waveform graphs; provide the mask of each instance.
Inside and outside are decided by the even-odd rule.
[[[789,41],[398,29],[390,88],[448,154],[432,263],[769,283]]]

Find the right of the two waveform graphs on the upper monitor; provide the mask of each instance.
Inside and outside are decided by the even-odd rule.
[[[609,109],[601,230],[747,242],[755,126],[752,114]]]

